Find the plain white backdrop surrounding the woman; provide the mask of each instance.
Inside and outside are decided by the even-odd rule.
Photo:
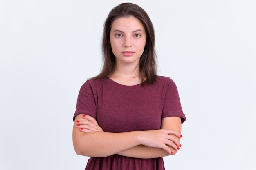
[[[0,0],[0,169],[83,170],[72,117],[101,68],[101,35],[121,0]],[[166,170],[256,168],[256,2],[130,0],[150,16],[159,75],[187,121]]]

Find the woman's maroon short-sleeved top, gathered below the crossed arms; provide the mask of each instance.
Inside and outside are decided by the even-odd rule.
[[[79,91],[74,118],[79,114],[94,117],[105,132],[117,133],[160,129],[164,117],[181,117],[182,123],[186,120],[175,83],[163,76],[144,86],[125,86],[109,78],[87,80]],[[164,162],[162,157],[115,154],[91,157],[85,170],[164,170]]]

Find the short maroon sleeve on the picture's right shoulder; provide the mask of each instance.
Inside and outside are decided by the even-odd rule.
[[[164,108],[162,111],[162,119],[165,117],[176,116],[180,117],[182,123],[186,120],[186,116],[182,111],[180,104],[180,97],[177,90],[176,84],[172,79],[169,79],[169,82],[166,86],[166,93],[164,97]]]

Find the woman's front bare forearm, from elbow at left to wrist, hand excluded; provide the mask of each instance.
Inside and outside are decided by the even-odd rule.
[[[137,132],[79,132],[73,130],[74,150],[78,155],[89,157],[107,157],[127,150],[139,144]]]

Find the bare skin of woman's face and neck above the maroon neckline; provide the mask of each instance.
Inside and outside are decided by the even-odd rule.
[[[110,44],[116,57],[115,71],[110,79],[123,85],[141,83],[139,59],[146,45],[146,31],[135,17],[118,18],[112,23]],[[125,55],[131,51],[131,55]]]

